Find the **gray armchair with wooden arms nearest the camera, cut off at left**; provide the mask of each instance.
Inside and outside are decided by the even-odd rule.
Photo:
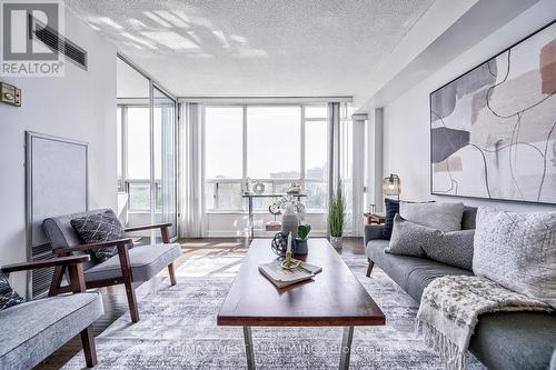
[[[0,272],[63,267],[75,294],[49,297],[19,303],[0,311],[0,369],[30,369],[76,334],[81,334],[87,367],[97,363],[90,324],[103,313],[97,292],[86,292],[82,263],[89,257],[64,257],[4,266]]]

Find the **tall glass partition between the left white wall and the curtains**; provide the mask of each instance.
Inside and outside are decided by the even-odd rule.
[[[118,217],[128,227],[170,222],[177,237],[177,101],[121,57],[116,69]],[[133,237],[160,238],[153,230]]]

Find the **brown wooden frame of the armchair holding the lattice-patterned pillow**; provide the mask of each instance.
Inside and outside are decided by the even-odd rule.
[[[162,242],[169,243],[170,242],[170,237],[169,237],[170,234],[168,230],[169,227],[171,227],[171,223],[156,223],[156,224],[146,224],[140,227],[127,228],[125,229],[125,231],[131,232],[131,231],[141,231],[150,229],[160,229]],[[131,238],[126,238],[126,239],[111,240],[92,244],[80,244],[69,248],[57,248],[53,250],[53,252],[57,256],[71,256],[71,252],[73,251],[90,251],[107,247],[117,247],[118,256],[120,259],[121,278],[90,281],[90,282],[85,282],[85,284],[87,289],[92,289],[92,288],[110,287],[123,283],[126,287],[126,296],[128,299],[131,321],[137,322],[139,321],[139,310],[137,308],[137,298],[133,289],[133,274],[131,271],[131,262],[129,260],[129,252],[128,252],[128,244],[130,243],[131,243]],[[56,296],[59,292],[67,292],[71,290],[71,287],[69,286],[60,287],[64,272],[66,272],[66,267],[63,266],[56,267],[54,274],[52,277],[52,283],[50,284],[49,296]],[[173,262],[168,264],[168,273],[170,276],[170,283],[172,286],[176,286],[176,273],[173,270]]]

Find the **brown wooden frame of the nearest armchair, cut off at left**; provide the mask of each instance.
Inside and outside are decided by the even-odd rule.
[[[41,261],[32,261],[32,262],[23,262],[3,266],[0,270],[9,274],[10,272],[17,271],[27,271],[42,268],[54,267],[56,269],[68,269],[69,274],[69,288],[68,291],[73,293],[81,293],[87,291],[85,284],[85,276],[83,276],[83,264],[89,261],[89,256],[72,256],[72,257],[61,257],[61,258],[52,258],[48,260]],[[56,294],[49,294],[56,296]],[[97,350],[95,348],[95,338],[92,336],[91,327],[87,327],[80,332],[81,343],[83,346],[85,360],[87,362],[88,368],[92,368],[97,364]]]

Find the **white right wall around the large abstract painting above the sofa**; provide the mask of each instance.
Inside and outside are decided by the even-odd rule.
[[[467,50],[430,77],[384,107],[384,174],[401,178],[406,200],[457,198],[430,196],[429,186],[429,93],[457,76],[486,61],[556,18],[556,1],[542,0],[488,38]],[[465,199],[467,204],[504,209],[554,209],[515,202]]]

